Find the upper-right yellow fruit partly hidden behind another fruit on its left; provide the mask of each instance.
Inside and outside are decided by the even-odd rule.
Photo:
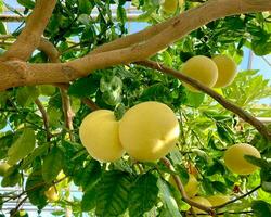
[[[227,55],[216,55],[212,61],[218,67],[218,79],[214,88],[223,88],[231,85],[237,73],[236,63]]]

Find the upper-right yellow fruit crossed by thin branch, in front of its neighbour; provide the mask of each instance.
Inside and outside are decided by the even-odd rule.
[[[216,63],[204,55],[196,55],[189,59],[183,64],[181,72],[209,88],[214,87],[218,79],[218,67]],[[190,85],[184,84],[184,86],[192,91],[197,91]]]

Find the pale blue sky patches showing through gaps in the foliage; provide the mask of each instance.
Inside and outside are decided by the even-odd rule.
[[[16,0],[4,0],[5,3],[12,5],[13,8],[18,7],[20,4],[17,4]],[[16,27],[18,26],[18,23],[12,23],[8,25],[8,29],[12,33]],[[131,23],[129,24],[129,30],[130,33],[137,33],[143,28],[145,28],[146,24],[144,23]],[[248,49],[244,49],[244,58],[242,63],[238,65],[238,69],[240,71],[245,71],[248,67],[248,56],[249,56],[249,50]],[[266,60],[271,63],[271,54],[264,56]],[[253,69],[259,69],[260,74],[262,74],[264,76],[264,78],[267,79],[271,79],[271,66],[261,58],[261,56],[253,56],[253,65],[251,65]],[[260,103],[264,103],[264,104],[270,104],[271,105],[271,98],[269,99],[264,99],[261,100]],[[26,209],[30,209],[34,207],[30,206],[25,206]],[[29,213],[30,216],[37,216],[36,212],[30,212]],[[48,213],[43,213],[42,216],[50,216]]]

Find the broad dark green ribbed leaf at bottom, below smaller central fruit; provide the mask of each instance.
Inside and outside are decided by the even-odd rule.
[[[106,171],[98,183],[95,214],[99,217],[114,217],[128,207],[131,176],[127,173]]]

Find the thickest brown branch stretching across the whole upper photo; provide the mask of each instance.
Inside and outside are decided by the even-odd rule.
[[[216,18],[246,12],[271,10],[271,1],[269,0],[257,0],[257,4],[254,2],[255,0],[210,0],[198,8],[182,13],[173,20],[173,23],[166,22],[165,29],[158,30],[159,34],[156,34],[157,27],[151,27],[152,33],[150,35],[153,34],[153,37],[144,42],[102,53],[98,53],[99,50],[96,50],[93,54],[68,63],[26,64],[20,61],[0,62],[2,72],[0,75],[0,90],[24,85],[68,82],[78,77],[83,77],[94,69],[145,60],[184,35]],[[144,39],[144,37],[142,38]],[[119,41],[121,40],[119,39]]]

